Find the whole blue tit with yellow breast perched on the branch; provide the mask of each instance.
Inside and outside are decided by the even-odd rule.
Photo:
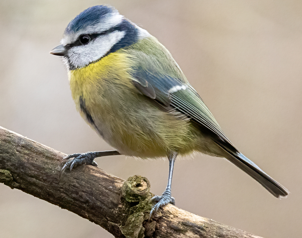
[[[170,52],[115,8],[94,6],[80,13],[50,53],[62,56],[76,109],[116,149],[68,155],[60,175],[79,164],[97,166],[94,159],[105,155],[168,157],[168,185],[150,200],[156,202],[151,217],[175,203],[176,157],[202,152],[226,158],[277,198],[289,194],[235,148]]]

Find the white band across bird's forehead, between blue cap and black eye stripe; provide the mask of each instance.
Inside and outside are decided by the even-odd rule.
[[[95,23],[94,25],[88,25],[79,29],[78,31],[69,31],[68,34],[64,33],[61,44],[67,45],[74,42],[82,34],[94,34],[101,33],[111,27],[117,26],[124,19],[123,15],[120,15],[117,11],[106,14],[101,21]]]

